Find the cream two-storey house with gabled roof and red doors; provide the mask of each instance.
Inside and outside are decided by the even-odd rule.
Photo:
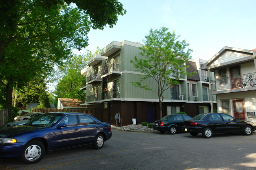
[[[224,47],[201,69],[214,72],[211,93],[218,112],[256,122],[256,49]]]

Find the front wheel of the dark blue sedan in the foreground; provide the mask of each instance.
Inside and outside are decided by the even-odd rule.
[[[27,143],[20,156],[24,163],[38,163],[45,155],[45,146],[40,141],[31,141]]]

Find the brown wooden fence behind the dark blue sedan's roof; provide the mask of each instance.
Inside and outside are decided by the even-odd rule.
[[[64,109],[55,109],[55,108],[33,108],[32,112],[42,112],[42,113],[48,113],[48,112],[76,112],[76,113],[86,113],[89,115],[95,116],[95,110],[93,109],[69,109],[69,108],[64,108]]]

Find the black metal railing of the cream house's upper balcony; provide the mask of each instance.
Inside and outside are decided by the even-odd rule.
[[[249,77],[250,76],[250,77]],[[212,91],[231,90],[237,88],[249,88],[251,79],[256,79],[256,73],[248,73],[236,77],[227,77],[224,79],[216,79],[211,81]],[[245,86],[243,86],[245,85]],[[255,85],[256,86],[256,85]]]

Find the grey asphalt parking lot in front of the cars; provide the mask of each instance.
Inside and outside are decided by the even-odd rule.
[[[26,165],[16,158],[0,159],[0,170],[255,170],[256,133],[201,134],[124,132],[100,150],[91,145],[50,152]]]

